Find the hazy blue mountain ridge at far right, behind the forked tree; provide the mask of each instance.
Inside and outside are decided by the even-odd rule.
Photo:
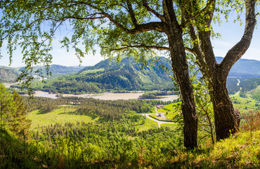
[[[222,57],[216,57],[217,63],[223,61]],[[230,70],[228,77],[254,78],[260,77],[260,61],[240,58]]]

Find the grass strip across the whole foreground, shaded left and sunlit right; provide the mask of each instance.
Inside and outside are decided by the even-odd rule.
[[[0,130],[0,168],[122,168],[124,158],[82,161],[60,156],[56,151],[41,151],[41,146],[13,139]],[[155,154],[154,154],[155,153]],[[139,154],[139,156],[138,156]],[[260,131],[240,132],[214,146],[204,145],[194,151],[179,147],[169,154],[161,151],[145,153],[129,161],[138,168],[260,168]],[[155,155],[158,158],[155,158]],[[153,157],[153,158],[150,158]]]

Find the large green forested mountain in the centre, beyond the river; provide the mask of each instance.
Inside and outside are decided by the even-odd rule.
[[[171,89],[173,82],[169,73],[164,73],[160,65],[171,68],[167,58],[160,61],[148,61],[148,67],[136,63],[134,58],[122,57],[117,63],[115,58],[100,61],[96,65],[86,67],[74,75],[46,80],[41,90],[60,93],[86,93],[124,90],[157,90]],[[37,88],[39,89],[39,88]]]

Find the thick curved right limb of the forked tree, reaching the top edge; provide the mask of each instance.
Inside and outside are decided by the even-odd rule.
[[[242,36],[240,42],[235,44],[220,64],[221,72],[224,74],[222,77],[227,77],[231,67],[235,64],[238,59],[240,59],[243,54],[249,48],[252,40],[254,27],[256,25],[256,14],[255,14],[255,4],[257,0],[246,0],[246,21],[245,21],[245,32]],[[224,70],[224,71],[223,71]]]

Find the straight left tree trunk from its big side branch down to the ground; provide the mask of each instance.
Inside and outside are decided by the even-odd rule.
[[[197,114],[195,110],[193,85],[188,73],[188,63],[181,33],[181,30],[172,31],[171,34],[168,35],[169,47],[174,77],[178,83],[182,99],[181,110],[184,120],[184,146],[188,149],[194,149],[197,146]]]

